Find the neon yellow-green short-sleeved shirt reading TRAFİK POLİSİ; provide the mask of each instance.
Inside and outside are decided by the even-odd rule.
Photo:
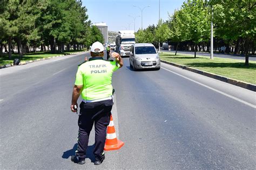
[[[103,99],[112,95],[112,73],[119,69],[116,61],[93,57],[78,67],[75,85],[83,85],[84,100]]]

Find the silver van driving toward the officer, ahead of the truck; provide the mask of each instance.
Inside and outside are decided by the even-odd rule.
[[[160,58],[153,44],[137,43],[131,46],[130,67],[138,69],[160,69]]]

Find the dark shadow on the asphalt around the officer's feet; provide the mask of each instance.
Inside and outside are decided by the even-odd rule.
[[[88,146],[86,150],[85,158],[89,158],[91,162],[95,162],[95,155],[93,154],[94,148],[95,148],[95,145],[93,144],[91,146]],[[72,155],[75,155],[76,149],[77,149],[77,144],[75,144],[72,149],[63,152],[62,158],[69,159],[69,157],[71,157]]]

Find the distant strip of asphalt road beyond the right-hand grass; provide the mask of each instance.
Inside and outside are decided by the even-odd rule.
[[[168,50],[163,50],[164,52],[176,52],[176,51],[168,51]],[[186,54],[186,55],[194,55],[194,52],[190,51],[177,51],[177,53],[181,54]],[[197,52],[197,55],[199,56],[207,56],[210,57],[209,52]],[[232,59],[242,59],[245,60],[244,55],[228,55],[228,54],[223,54],[223,53],[213,53],[213,57],[220,57],[220,58],[232,58]],[[249,61],[256,61],[256,57],[254,56],[249,56]]]

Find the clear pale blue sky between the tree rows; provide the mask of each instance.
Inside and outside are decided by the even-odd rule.
[[[82,5],[87,9],[87,15],[92,23],[105,22],[109,31],[133,30],[135,18],[135,31],[149,25],[157,25],[159,18],[166,21],[168,12],[172,14],[175,9],[180,9],[184,0],[82,0]],[[138,6],[142,11],[135,6]],[[129,17],[132,16],[132,17]],[[143,18],[137,17],[143,15]]]

